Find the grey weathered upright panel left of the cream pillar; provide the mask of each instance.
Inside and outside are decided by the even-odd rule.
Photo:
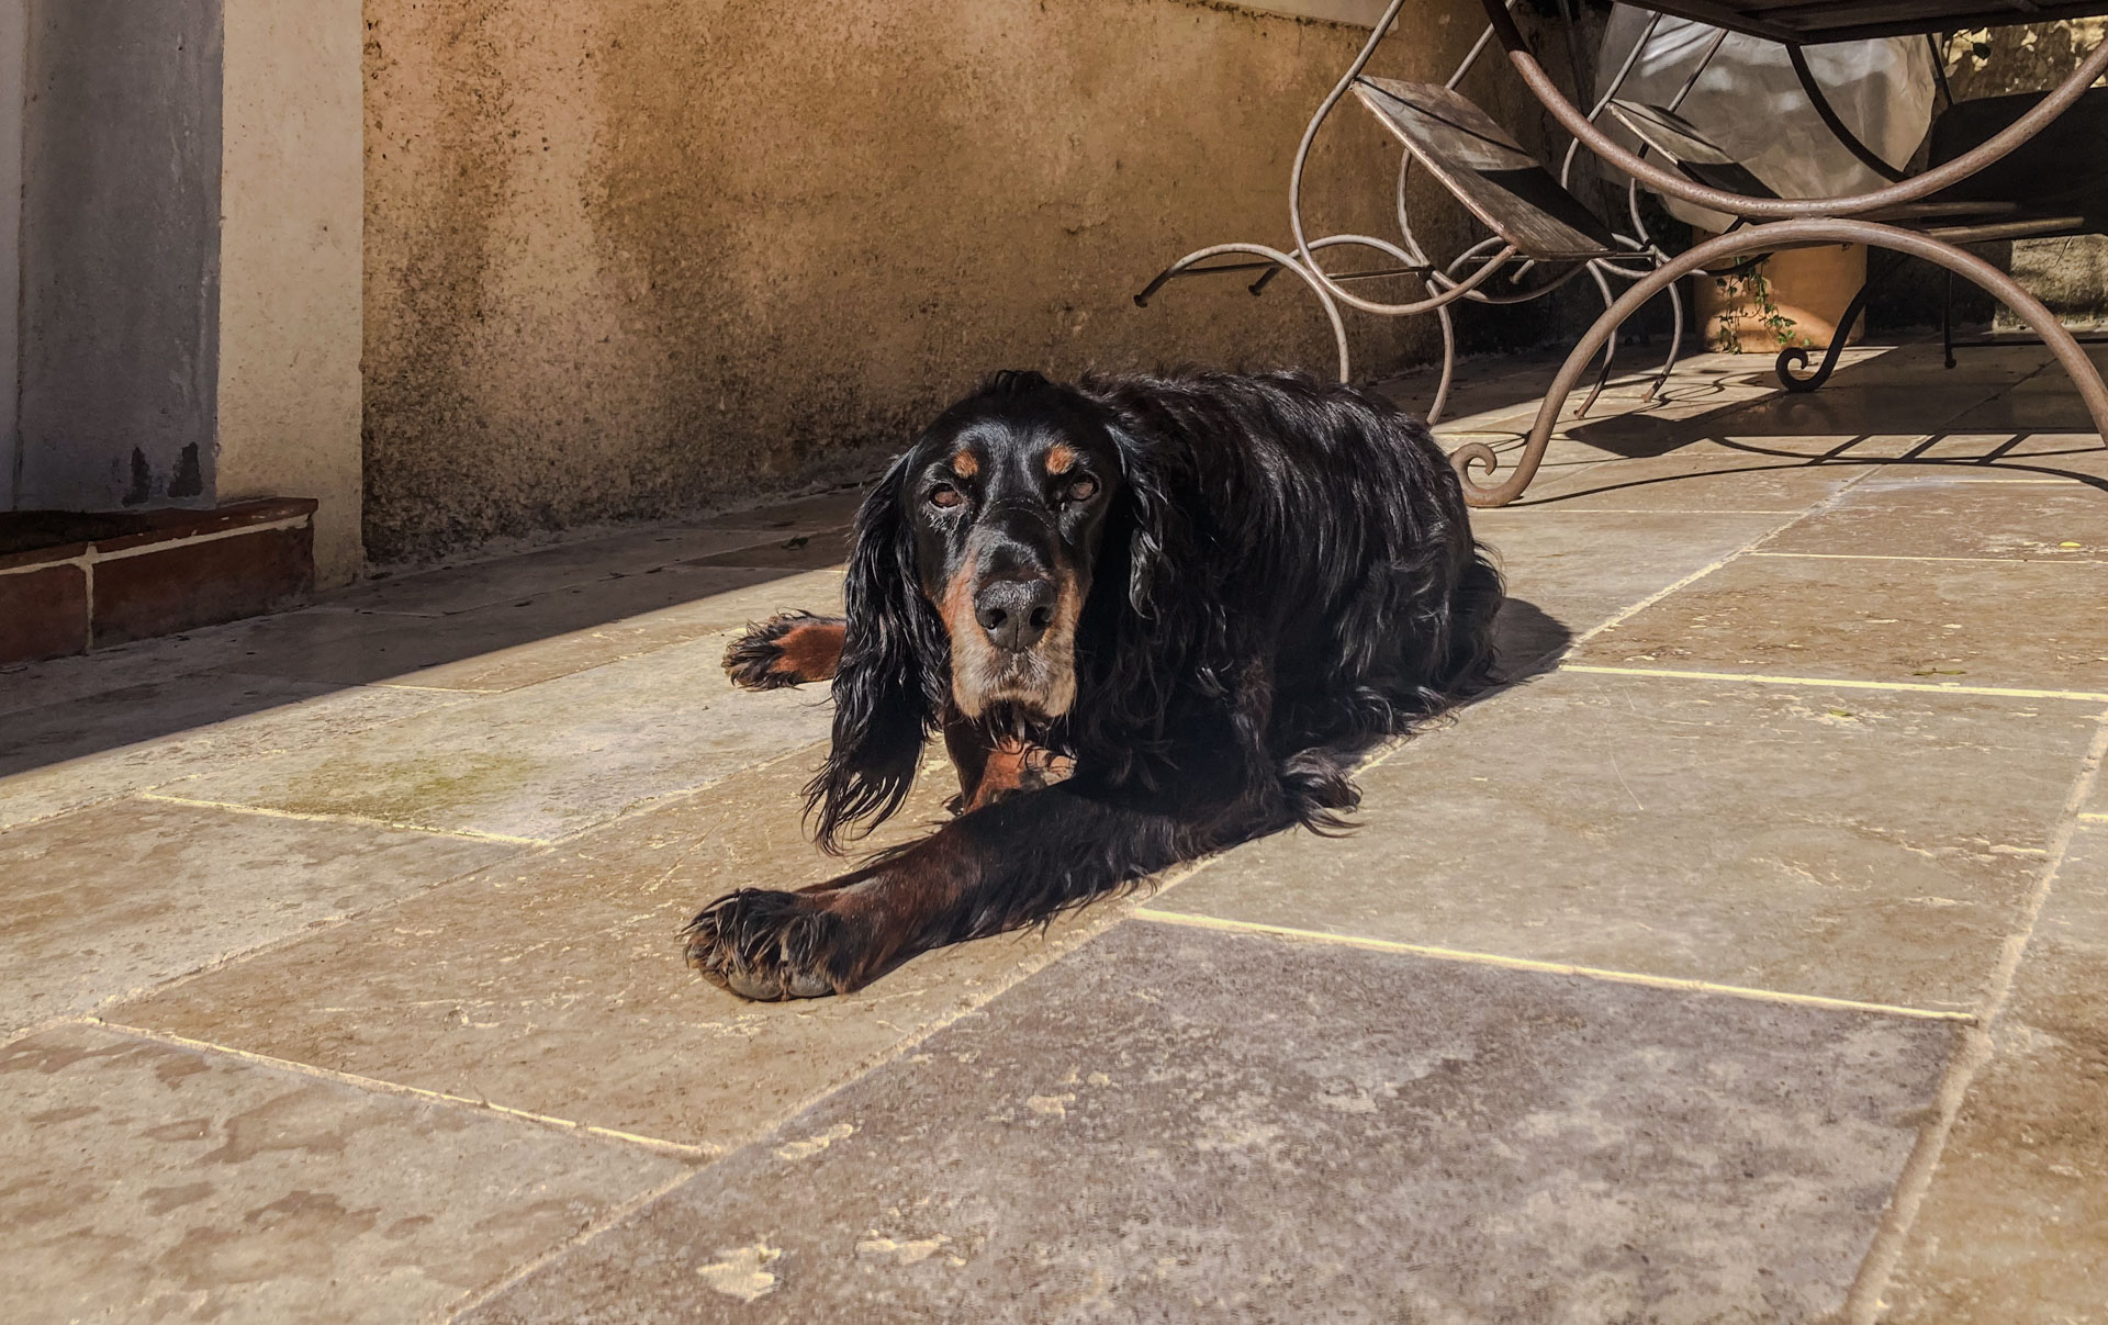
[[[15,503],[211,503],[219,0],[34,0]]]

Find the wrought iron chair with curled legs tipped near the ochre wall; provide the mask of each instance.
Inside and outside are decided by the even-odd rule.
[[[1509,0],[1509,6],[1514,6],[1514,2],[1516,0]],[[1134,301],[1136,305],[1147,308],[1149,299],[1155,297],[1155,293],[1170,280],[1223,272],[1258,272],[1258,278],[1250,282],[1250,291],[1258,295],[1280,272],[1286,270],[1303,280],[1324,308],[1332,327],[1334,345],[1339,350],[1341,381],[1347,381],[1351,375],[1347,329],[1341,318],[1343,305],[1374,316],[1433,314],[1442,327],[1442,377],[1436,388],[1433,404],[1427,411],[1427,419],[1433,423],[1440,421],[1442,411],[1448,404],[1450,381],[1457,367],[1457,331],[1450,320],[1450,305],[1465,299],[1495,305],[1526,303],[1549,295],[1583,274],[1596,282],[1604,305],[1608,305],[1613,301],[1613,280],[1640,280],[1651,274],[1659,261],[1663,261],[1663,255],[1646,236],[1644,225],[1640,225],[1636,192],[1629,202],[1634,234],[1619,234],[1568,190],[1575,162],[1573,150],[1568,150],[1560,175],[1554,177],[1505,131],[1501,131],[1490,116],[1457,91],[1490,46],[1490,27],[1478,38],[1469,55],[1465,55],[1463,63],[1442,86],[1366,76],[1364,70],[1385,36],[1389,36],[1402,8],[1404,0],[1391,0],[1355,61],[1347,67],[1339,84],[1334,84],[1332,93],[1320,103],[1318,112],[1303,131],[1303,141],[1296,147],[1294,164],[1288,175],[1288,213],[1290,230],[1294,234],[1292,249],[1273,249],[1250,242],[1197,249],[1159,272],[1134,297]],[[1653,23],[1640,36],[1640,42],[1625,59],[1619,76],[1611,80],[1611,86],[1606,88],[1602,101],[1598,101],[1594,114],[1604,114],[1611,93],[1615,93],[1617,84],[1632,72],[1651,36]],[[1697,74],[1693,74],[1693,82],[1695,80]],[[1309,164],[1311,143],[1318,139],[1318,133],[1332,110],[1349,93],[1353,93],[1355,99],[1404,143],[1395,185],[1398,240],[1366,234],[1309,238],[1303,225],[1303,173]],[[1471,244],[1446,263],[1429,259],[1412,234],[1412,217],[1406,206],[1406,187],[1414,164],[1425,169],[1450,196],[1463,202],[1463,206],[1478,217],[1478,221],[1484,223],[1492,236]],[[1326,272],[1318,261],[1318,253],[1326,249],[1372,251],[1387,259],[1387,265],[1355,272]],[[1530,280],[1539,268],[1547,268],[1547,272]],[[1499,276],[1505,276],[1505,282],[1495,284],[1495,278]],[[1381,278],[1417,280],[1425,289],[1425,297],[1389,303],[1362,297],[1349,289],[1349,284]],[[1648,398],[1659,394],[1661,383],[1674,371],[1682,343],[1682,299],[1674,289],[1667,293],[1674,308],[1676,331],[1670,337],[1670,356],[1648,385]],[[1596,392],[1600,392],[1608,381],[1615,350],[1617,345],[1613,337],[1613,341],[1604,345],[1604,362],[1596,381]],[[1587,413],[1589,404],[1594,404],[1596,392],[1592,392],[1587,402],[1583,402],[1581,413]]]

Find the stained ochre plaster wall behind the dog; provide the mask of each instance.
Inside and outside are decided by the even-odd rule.
[[[1419,4],[1379,72],[1444,76],[1480,13]],[[1178,0],[365,17],[375,560],[797,482],[997,367],[1330,360],[1292,280],[1130,297],[1286,238],[1296,137],[1366,32]],[[1336,122],[1311,217],[1383,234],[1395,154]],[[1436,348],[1427,318],[1351,331],[1362,373]]]

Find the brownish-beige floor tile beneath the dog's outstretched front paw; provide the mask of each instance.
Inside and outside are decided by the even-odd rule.
[[[799,826],[818,750],[114,1009],[110,1020],[704,1146],[731,1146],[1111,923],[921,956],[847,998],[761,1005],[681,963],[736,887],[843,870]],[[938,760],[879,843],[936,819]],[[875,843],[875,845],[879,845]],[[318,965],[327,980],[316,980]]]

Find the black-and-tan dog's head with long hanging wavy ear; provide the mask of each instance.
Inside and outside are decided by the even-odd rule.
[[[946,701],[1024,723],[1071,710],[1107,529],[1143,527],[1147,499],[1111,415],[1037,373],[989,379],[894,461],[850,552],[835,746],[807,788],[822,843],[898,809]]]

